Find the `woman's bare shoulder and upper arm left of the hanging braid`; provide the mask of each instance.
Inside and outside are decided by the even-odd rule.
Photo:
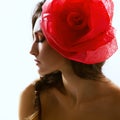
[[[28,85],[20,96],[19,120],[24,120],[34,112],[34,83]]]

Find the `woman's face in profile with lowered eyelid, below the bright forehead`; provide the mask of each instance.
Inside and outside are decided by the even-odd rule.
[[[34,42],[30,53],[35,56],[39,74],[44,76],[60,70],[66,59],[52,49],[41,31],[33,33]]]

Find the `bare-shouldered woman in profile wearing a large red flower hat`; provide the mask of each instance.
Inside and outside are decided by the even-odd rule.
[[[119,120],[120,89],[102,73],[117,50],[111,0],[47,0],[32,17],[40,79],[20,100],[20,120]]]

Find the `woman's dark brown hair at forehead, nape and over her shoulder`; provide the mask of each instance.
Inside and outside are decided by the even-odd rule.
[[[42,12],[42,5],[44,4],[45,0],[43,2],[40,2],[37,4],[35,11],[32,16],[32,29],[34,28],[35,21],[37,18],[41,15]],[[104,77],[102,73],[102,66],[104,62],[97,63],[97,64],[84,64],[80,62],[71,61],[71,65],[73,68],[73,71],[76,75],[78,75],[80,78],[83,78],[85,80],[99,80]],[[35,84],[35,91],[36,91],[36,108],[40,108],[40,100],[39,100],[39,94],[40,92],[43,92],[46,89],[56,87],[58,90],[64,93],[64,86],[62,83],[62,73],[60,71],[51,73],[48,75],[45,75],[44,77],[40,78]]]

